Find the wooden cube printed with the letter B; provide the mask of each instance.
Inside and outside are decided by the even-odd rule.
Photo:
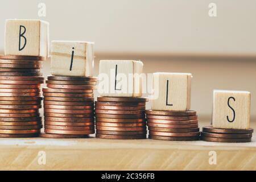
[[[49,23],[42,20],[6,20],[5,55],[47,57]]]

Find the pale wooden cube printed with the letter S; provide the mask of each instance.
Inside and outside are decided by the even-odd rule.
[[[249,129],[250,92],[214,90],[212,125],[219,129]]]

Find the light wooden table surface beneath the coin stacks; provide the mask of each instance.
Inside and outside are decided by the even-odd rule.
[[[209,164],[210,151],[216,152],[216,164]],[[256,170],[256,138],[250,143],[2,138],[0,164],[1,170]]]

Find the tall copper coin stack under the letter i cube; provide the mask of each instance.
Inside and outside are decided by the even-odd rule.
[[[48,76],[44,96],[45,138],[86,138],[94,134],[96,77]]]

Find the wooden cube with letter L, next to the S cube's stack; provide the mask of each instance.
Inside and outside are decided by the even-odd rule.
[[[191,78],[191,73],[153,73],[152,110],[189,110]]]

